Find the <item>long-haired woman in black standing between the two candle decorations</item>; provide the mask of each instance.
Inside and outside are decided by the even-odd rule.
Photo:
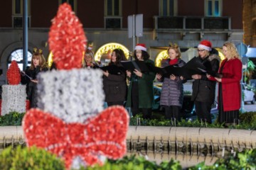
[[[38,80],[36,76],[39,72],[46,72],[46,59],[43,57],[43,51],[41,49],[34,49],[32,56],[31,66],[25,71],[25,74],[21,74],[21,84],[26,84],[26,94],[30,101],[31,108],[37,107],[37,89],[36,85]]]

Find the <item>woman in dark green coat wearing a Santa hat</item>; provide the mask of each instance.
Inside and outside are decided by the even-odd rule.
[[[146,64],[154,66],[154,62],[149,60],[149,53],[146,52],[146,45],[137,44],[134,50],[135,60],[144,61]],[[154,72],[133,72],[127,71],[130,80],[126,106],[132,109],[132,115],[137,115],[142,111],[143,118],[151,118],[151,108],[154,102],[153,81],[156,74]]]

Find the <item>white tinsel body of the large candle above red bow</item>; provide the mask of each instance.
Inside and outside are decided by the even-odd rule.
[[[84,123],[103,111],[101,70],[71,69],[38,75],[38,108],[66,123]]]

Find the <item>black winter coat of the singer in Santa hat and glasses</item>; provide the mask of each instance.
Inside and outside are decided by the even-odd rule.
[[[218,72],[220,65],[220,57],[218,55],[210,55],[201,59],[198,57],[203,65],[209,70]],[[201,74],[201,79],[195,79],[192,85],[192,101],[201,101],[213,103],[215,99],[215,86],[216,81],[210,81],[206,74]]]

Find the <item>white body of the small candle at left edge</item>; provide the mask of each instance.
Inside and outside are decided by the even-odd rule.
[[[26,86],[25,85],[3,85],[1,115],[11,111],[18,113],[26,112]]]

